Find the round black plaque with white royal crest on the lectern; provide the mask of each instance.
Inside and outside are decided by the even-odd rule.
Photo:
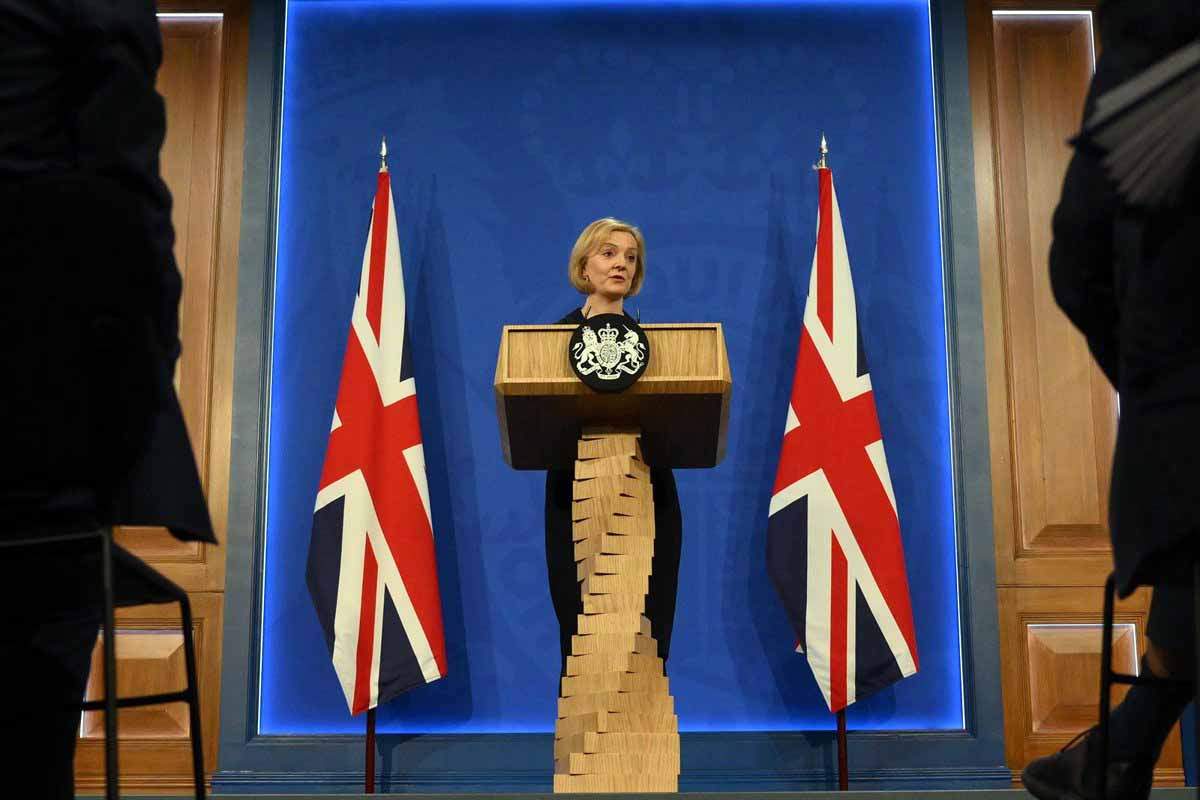
[[[623,392],[650,362],[650,341],[624,314],[596,314],[571,333],[566,354],[571,369],[598,392]]]

